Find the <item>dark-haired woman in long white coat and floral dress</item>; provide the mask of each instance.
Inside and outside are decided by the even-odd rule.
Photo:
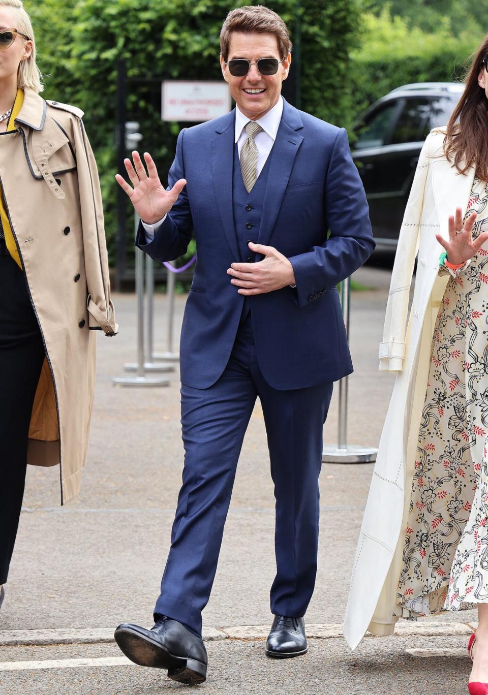
[[[487,67],[488,36],[447,129],[425,141],[402,222],[380,345],[397,377],[344,625],[355,648],[400,617],[478,607],[476,695],[488,693]]]

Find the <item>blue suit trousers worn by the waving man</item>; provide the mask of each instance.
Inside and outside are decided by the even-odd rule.
[[[217,569],[237,461],[257,396],[263,408],[276,498],[277,573],[270,592],[271,612],[301,617],[314,591],[318,477],[332,382],[293,391],[273,389],[257,363],[249,315],[238,329],[220,379],[208,389],[181,386],[183,485],[154,616],[169,616],[199,634]]]

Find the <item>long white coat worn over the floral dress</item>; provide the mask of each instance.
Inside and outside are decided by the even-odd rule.
[[[435,234],[448,238],[448,217],[466,212],[474,169],[458,174],[444,156],[444,134],[430,133],[418,160],[402,222],[380,345],[380,370],[396,372],[384,422],[359,542],[344,635],[355,649],[366,630],[390,635],[398,620],[396,593],[402,566],[421,412],[427,389],[435,320],[448,275],[439,276],[443,251]],[[414,261],[418,264],[408,313]]]

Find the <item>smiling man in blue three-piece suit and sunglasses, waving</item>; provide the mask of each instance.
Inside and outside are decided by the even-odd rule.
[[[238,8],[220,40],[236,109],[179,133],[167,190],[147,153],[147,172],[137,152],[125,161],[132,186],[117,175],[144,220],[136,243],[149,256],[177,259],[197,239],[181,332],[183,486],[156,624],[115,631],[133,662],[190,684],[206,678],[202,609],[257,396],[276,498],[266,653],[307,651],[323,423],[332,382],[352,371],[336,284],[374,248],[345,130],[281,96],[291,63],[282,19]]]

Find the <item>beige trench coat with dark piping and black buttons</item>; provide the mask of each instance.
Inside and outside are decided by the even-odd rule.
[[[97,165],[83,112],[26,89],[0,137],[0,183],[46,360],[28,462],[60,464],[61,504],[79,491],[95,389],[93,329],[117,332]]]

